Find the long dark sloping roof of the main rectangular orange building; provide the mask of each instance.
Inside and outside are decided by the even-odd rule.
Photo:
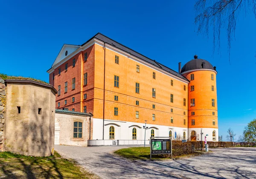
[[[127,46],[124,46],[121,43],[118,43],[115,40],[112,40],[111,38],[108,38],[105,35],[102,35],[101,33],[98,33],[98,34],[94,35],[92,38],[90,38],[90,40],[93,39],[93,38],[97,38],[99,40],[102,40],[105,43],[108,43],[109,45],[115,46],[116,48],[121,49],[121,50],[123,50],[127,53],[130,53],[131,55],[134,55],[135,57],[140,58],[140,59],[142,59],[142,60],[144,60],[144,61],[146,61],[150,64],[153,64],[154,66],[157,66],[158,68],[163,69],[166,72],[171,73],[172,75],[175,75],[177,77],[180,77],[180,78],[188,81],[186,78],[184,78],[178,72],[175,72],[174,70],[168,68],[167,66],[164,66],[163,64],[160,64],[157,61],[154,61],[154,60],[152,60],[152,59],[150,59],[150,58],[148,58],[148,57],[146,57],[146,56],[128,48]],[[88,40],[87,42],[89,42],[90,40]],[[87,43],[87,42],[85,42],[85,43]],[[85,43],[83,43],[81,46],[83,46]]]

